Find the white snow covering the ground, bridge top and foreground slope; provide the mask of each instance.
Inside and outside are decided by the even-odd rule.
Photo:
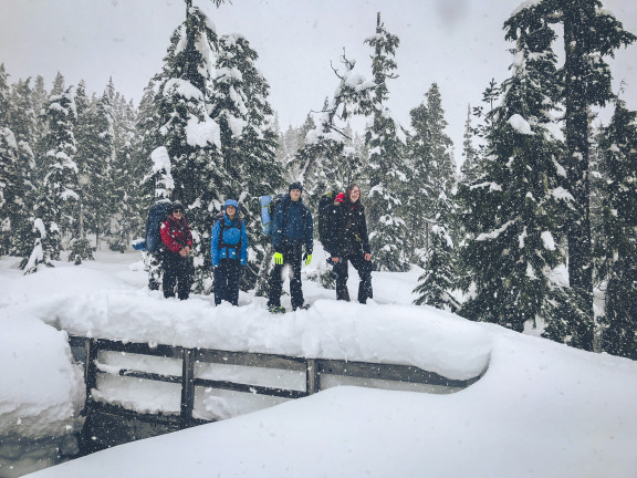
[[[324,263],[320,253],[314,263]],[[135,342],[411,364],[450,378],[449,395],[333,387],[239,415],[232,397],[201,413],[232,417],[118,446],[36,477],[626,477],[637,475],[637,363],[568,349],[410,305],[419,270],[375,273],[368,305],[336,303],[305,281],[307,311],[270,315],[261,298],[164,300],[145,289],[138,253],[97,253],[23,277],[0,260],[0,477],[49,466],[84,388],[65,332]],[[355,292],[352,271],[351,290]],[[284,299],[289,305],[289,299]],[[118,366],[117,356],[104,358]],[[166,364],[170,366],[170,364]],[[170,409],[104,383],[103,399]],[[136,392],[133,392],[136,393]],[[140,398],[142,397],[142,398]]]

